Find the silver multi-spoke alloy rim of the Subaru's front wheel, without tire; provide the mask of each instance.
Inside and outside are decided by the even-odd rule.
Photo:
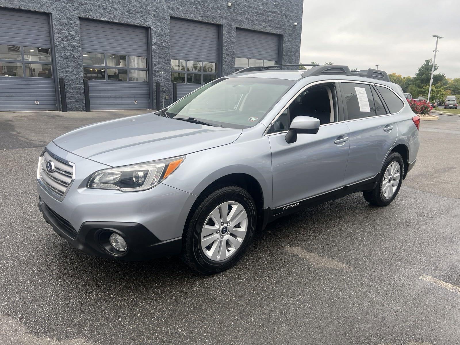
[[[213,209],[201,229],[203,253],[211,260],[230,258],[241,246],[247,230],[247,213],[236,201],[226,201]]]

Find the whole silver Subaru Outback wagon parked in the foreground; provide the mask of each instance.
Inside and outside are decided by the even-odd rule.
[[[383,71],[250,67],[158,112],[54,139],[39,159],[39,207],[85,253],[180,254],[216,273],[302,207],[355,192],[391,203],[416,161],[419,124]]]

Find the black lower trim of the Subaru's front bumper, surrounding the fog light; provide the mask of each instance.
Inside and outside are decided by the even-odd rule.
[[[43,218],[53,230],[72,246],[87,254],[128,261],[173,256],[182,249],[182,237],[160,241],[144,225],[125,222],[85,222],[77,232],[70,231],[63,217],[57,215],[43,201],[38,205]],[[73,228],[72,228],[73,229]],[[127,243],[125,252],[118,252],[108,243],[108,234],[116,233]]]

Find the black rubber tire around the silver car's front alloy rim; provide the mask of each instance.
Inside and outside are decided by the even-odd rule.
[[[228,259],[214,261],[209,259],[201,248],[200,235],[203,223],[209,213],[225,201],[240,203],[247,214],[247,233],[241,246]],[[193,270],[201,274],[214,274],[235,265],[243,256],[252,241],[256,229],[257,211],[251,195],[241,187],[234,185],[219,186],[210,190],[195,203],[185,224],[182,241],[182,260]]]

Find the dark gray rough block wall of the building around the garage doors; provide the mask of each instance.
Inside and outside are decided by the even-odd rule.
[[[166,72],[172,99],[169,18],[223,25],[223,75],[235,71],[236,28],[283,35],[283,63],[299,63],[303,0],[0,0],[0,6],[52,13],[57,77],[65,78],[69,110],[84,110],[79,17],[150,27],[153,82]],[[294,26],[294,23],[298,23]],[[165,106],[170,101],[165,100]]]

